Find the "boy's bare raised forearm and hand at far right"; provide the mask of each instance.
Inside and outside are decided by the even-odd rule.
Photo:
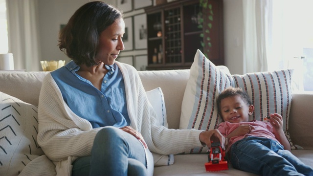
[[[283,131],[283,117],[278,113],[270,114],[268,121],[273,126],[273,133],[276,139],[284,146],[285,150],[291,151],[290,143]]]

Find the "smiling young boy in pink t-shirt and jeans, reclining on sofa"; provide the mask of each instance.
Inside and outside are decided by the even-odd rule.
[[[268,122],[249,121],[254,106],[241,88],[226,88],[217,107],[224,120],[218,130],[228,139],[234,168],[263,176],[313,176],[313,169],[291,154],[280,114],[270,114]]]

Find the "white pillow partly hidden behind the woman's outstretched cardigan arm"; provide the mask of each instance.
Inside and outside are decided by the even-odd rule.
[[[167,116],[165,109],[164,95],[161,88],[155,88],[153,90],[147,91],[147,97],[151,103],[153,109],[156,112],[157,125],[162,125],[168,128]],[[152,153],[155,166],[167,166],[174,163],[174,155],[162,155]]]

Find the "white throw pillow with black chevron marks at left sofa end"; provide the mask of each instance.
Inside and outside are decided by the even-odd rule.
[[[36,106],[0,92],[0,173],[17,176],[44,154],[37,143]]]

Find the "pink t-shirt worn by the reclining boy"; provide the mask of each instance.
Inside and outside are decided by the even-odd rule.
[[[274,139],[277,141],[275,135],[273,134],[273,127],[269,122],[262,122],[262,121],[250,121],[250,122],[241,122],[241,123],[229,123],[229,122],[222,122],[218,126],[218,130],[224,135],[227,136],[231,132],[233,132],[238,126],[240,125],[252,125],[255,129],[252,130],[250,133],[241,135],[241,136],[234,136],[228,140],[228,147],[226,152],[229,151],[231,145],[245,137],[248,136],[255,136],[255,137],[266,137],[269,139]]]

